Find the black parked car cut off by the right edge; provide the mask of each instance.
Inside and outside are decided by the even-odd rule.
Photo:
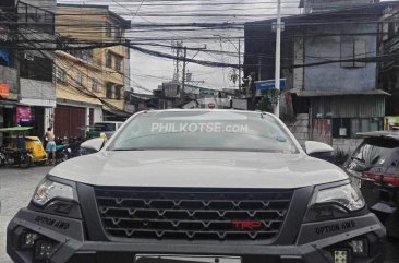
[[[344,165],[373,212],[399,237],[399,131],[360,133],[364,138]]]

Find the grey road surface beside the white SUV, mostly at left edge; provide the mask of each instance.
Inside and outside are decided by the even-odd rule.
[[[19,208],[28,204],[37,183],[51,167],[32,167],[29,169],[0,168],[0,263],[12,263],[5,253],[5,228]],[[387,263],[399,262],[399,242],[387,247]]]

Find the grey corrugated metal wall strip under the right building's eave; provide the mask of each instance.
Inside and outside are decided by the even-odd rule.
[[[314,117],[382,118],[385,116],[384,96],[313,97]]]

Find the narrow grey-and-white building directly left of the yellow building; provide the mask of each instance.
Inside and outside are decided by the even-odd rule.
[[[32,5],[34,2],[37,5]],[[53,124],[56,86],[52,77],[55,52],[55,13],[48,11],[56,0],[20,1],[17,4],[17,38],[26,50],[17,53],[20,63],[21,100],[19,111],[31,112],[31,119],[17,120],[17,124],[34,127],[34,133],[41,136]],[[51,43],[52,41],[52,43]]]

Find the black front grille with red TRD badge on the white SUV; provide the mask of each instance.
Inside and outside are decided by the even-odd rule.
[[[106,232],[118,238],[268,240],[285,220],[291,190],[96,188]]]

